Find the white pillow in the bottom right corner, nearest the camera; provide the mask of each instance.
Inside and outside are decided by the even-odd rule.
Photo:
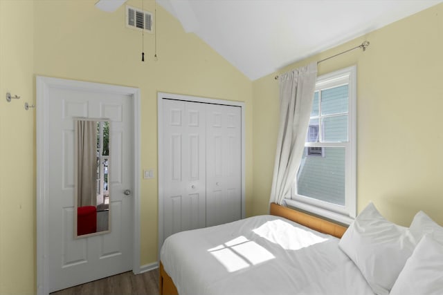
[[[390,295],[420,294],[443,294],[443,245],[428,234],[406,261],[390,292]]]

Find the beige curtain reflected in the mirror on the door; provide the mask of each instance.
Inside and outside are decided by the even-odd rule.
[[[97,204],[97,122],[77,123],[77,198],[78,207]]]

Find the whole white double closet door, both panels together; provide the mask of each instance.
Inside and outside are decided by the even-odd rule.
[[[159,103],[161,244],[179,231],[242,218],[241,108],[178,99]]]

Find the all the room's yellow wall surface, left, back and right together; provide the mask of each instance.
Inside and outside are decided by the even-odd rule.
[[[23,107],[33,103],[35,75],[140,88],[141,167],[154,171],[157,91],[245,102],[246,214],[268,209],[278,133],[275,74],[249,81],[161,7],[159,61],[154,36],[145,34],[142,63],[141,33],[125,28],[124,8],[106,13],[94,2],[0,0],[0,294],[35,292],[35,112]],[[154,2],[145,1],[145,9],[153,11]],[[404,225],[417,209],[443,223],[442,10],[440,4],[280,72],[371,42],[365,53],[320,64],[319,74],[357,65],[358,209],[373,200]],[[8,91],[22,98],[8,103]],[[141,180],[141,265],[157,259],[156,181]]]

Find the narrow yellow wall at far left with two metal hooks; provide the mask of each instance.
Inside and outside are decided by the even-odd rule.
[[[0,294],[35,285],[33,3],[0,0]],[[6,93],[21,99],[6,102]]]

